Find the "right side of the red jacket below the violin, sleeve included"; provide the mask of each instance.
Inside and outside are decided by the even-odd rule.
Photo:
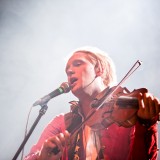
[[[156,160],[157,124],[144,126],[139,122],[131,128],[113,124],[101,131],[105,160]]]

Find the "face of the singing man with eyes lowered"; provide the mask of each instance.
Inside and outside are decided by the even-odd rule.
[[[83,52],[76,52],[68,60],[66,73],[68,82],[73,94],[87,91],[93,86],[96,77],[95,65],[89,61],[88,55]]]

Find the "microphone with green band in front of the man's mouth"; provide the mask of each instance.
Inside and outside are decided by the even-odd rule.
[[[49,100],[51,100],[52,98],[59,96],[62,93],[68,93],[70,91],[70,86],[68,84],[68,82],[63,82],[59,88],[57,88],[56,90],[54,90],[53,92],[49,93],[48,95],[40,98],[39,100],[37,100],[35,103],[33,103],[33,106],[43,106],[45,105]]]

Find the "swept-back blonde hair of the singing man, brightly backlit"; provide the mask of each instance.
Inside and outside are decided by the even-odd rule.
[[[112,59],[109,57],[107,53],[100,50],[96,47],[81,47],[77,48],[72,52],[72,54],[76,52],[83,52],[88,55],[88,58],[92,64],[95,64],[95,69],[99,67],[103,69],[103,74],[101,75],[103,79],[103,83],[106,86],[113,86],[117,82],[116,69]],[[98,63],[99,61],[99,63]]]

